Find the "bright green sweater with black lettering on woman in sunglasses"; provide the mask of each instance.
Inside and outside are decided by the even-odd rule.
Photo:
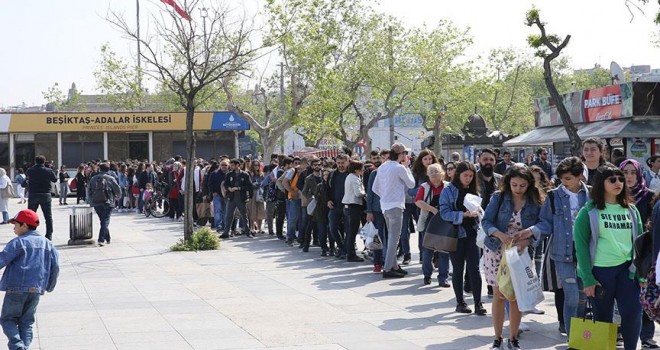
[[[642,221],[637,213],[636,222],[629,218],[628,208],[618,204],[607,204],[604,210],[598,210],[599,232],[596,242],[592,242],[589,211],[594,209],[594,202],[589,201],[578,213],[573,227],[575,254],[577,256],[577,273],[584,287],[598,284],[592,269],[598,267],[618,266],[633,258],[632,226],[637,225],[639,234],[643,232]],[[595,256],[590,253],[591,244],[595,244]],[[633,276],[631,276],[632,278]]]

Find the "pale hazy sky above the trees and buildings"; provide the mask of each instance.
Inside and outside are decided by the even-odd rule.
[[[142,31],[148,33],[148,18],[160,16],[166,5],[159,0],[139,1]],[[255,13],[264,0],[231,1],[234,6]],[[527,36],[536,31],[524,25],[525,12],[535,4],[549,33],[561,37],[571,34],[563,53],[570,56],[574,68],[591,68],[595,64],[608,68],[611,61],[623,67],[650,64],[660,68],[660,49],[651,44],[654,33],[660,33],[660,27],[652,21],[657,5],[645,6],[646,14],[634,10],[631,22],[624,2],[381,0],[375,7],[408,26],[432,26],[440,19],[448,19],[460,27],[469,27],[475,41],[469,54],[487,56],[493,48],[526,47]],[[6,2],[0,11],[0,107],[41,105],[45,103],[42,92],[55,83],[65,92],[75,82],[82,93],[97,93],[93,73],[98,68],[101,45],[110,43],[126,59],[136,54],[135,44],[105,20],[109,9],[123,12],[135,21],[135,0]],[[277,63],[271,58],[260,64],[274,69]]]

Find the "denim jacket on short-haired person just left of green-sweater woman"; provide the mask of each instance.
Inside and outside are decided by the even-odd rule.
[[[574,262],[573,256],[573,216],[571,200],[564,185],[552,190],[555,212],[552,213],[550,196],[546,197],[541,207],[540,221],[536,227],[543,233],[553,235],[550,258],[559,262]],[[578,191],[578,208],[582,208],[589,200],[589,189],[585,183]]]

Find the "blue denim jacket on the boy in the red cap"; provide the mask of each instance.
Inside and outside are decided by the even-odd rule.
[[[0,252],[5,272],[0,290],[9,292],[52,292],[60,273],[57,250],[36,231],[26,232],[7,243]]]

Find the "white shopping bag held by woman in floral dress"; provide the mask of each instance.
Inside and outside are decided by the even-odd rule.
[[[506,254],[506,263],[509,266],[518,309],[522,312],[531,311],[544,299],[541,280],[536,274],[536,270],[534,270],[532,258],[529,257],[527,249],[518,253],[518,248],[515,246],[507,249],[504,253]]]

